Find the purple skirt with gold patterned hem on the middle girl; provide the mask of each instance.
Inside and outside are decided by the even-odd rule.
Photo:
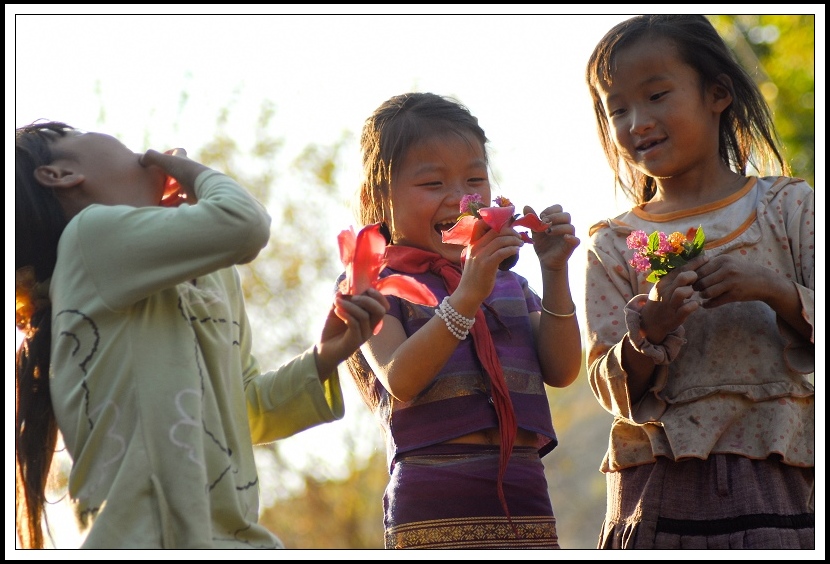
[[[399,456],[383,496],[386,548],[559,548],[539,453],[516,447],[499,501],[499,447],[435,445]]]

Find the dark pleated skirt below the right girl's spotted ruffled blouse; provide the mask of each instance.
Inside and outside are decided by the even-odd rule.
[[[777,456],[658,457],[606,483],[598,548],[815,549],[815,468]]]

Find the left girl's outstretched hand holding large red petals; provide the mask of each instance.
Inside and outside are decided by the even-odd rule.
[[[380,329],[387,311],[389,301],[374,288],[357,296],[337,293],[317,344],[317,372],[321,379],[328,378],[338,364]]]

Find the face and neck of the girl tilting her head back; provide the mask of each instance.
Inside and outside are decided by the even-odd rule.
[[[53,165],[80,175],[80,206],[92,203],[157,206],[164,194],[165,173],[142,166],[134,153],[115,137],[103,133],[72,132],[54,142]]]

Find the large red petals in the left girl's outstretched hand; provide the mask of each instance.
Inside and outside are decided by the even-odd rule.
[[[421,282],[404,274],[390,274],[380,278],[386,267],[386,239],[380,232],[380,224],[367,225],[355,235],[354,228],[344,229],[337,236],[340,261],[346,267],[346,278],[340,282],[340,291],[356,296],[369,288],[381,294],[430,307],[438,305],[435,295]]]

